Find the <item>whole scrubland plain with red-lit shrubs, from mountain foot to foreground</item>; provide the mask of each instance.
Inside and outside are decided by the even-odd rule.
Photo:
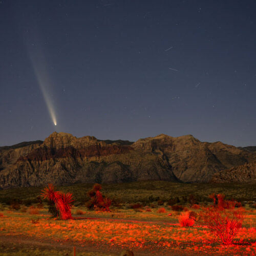
[[[256,253],[253,185],[142,182],[92,187],[56,188],[59,195],[73,194],[69,220],[61,220],[60,213],[53,216],[54,205],[42,200],[42,188],[0,191],[0,238],[5,238],[0,239],[0,255],[72,255],[73,246],[77,255],[120,255],[123,249],[135,255]]]

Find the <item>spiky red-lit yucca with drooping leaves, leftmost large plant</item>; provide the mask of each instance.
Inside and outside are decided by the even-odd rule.
[[[74,201],[71,193],[62,193],[55,191],[53,184],[49,184],[48,187],[42,190],[41,196],[44,199],[48,199],[52,205],[54,205],[54,213],[57,212],[60,215],[61,220],[73,219],[71,215],[71,203]],[[49,209],[50,210],[50,209]]]

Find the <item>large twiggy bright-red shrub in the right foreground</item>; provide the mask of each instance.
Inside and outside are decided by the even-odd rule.
[[[220,210],[216,207],[207,208],[200,217],[210,232],[225,245],[232,244],[244,220],[242,209]]]

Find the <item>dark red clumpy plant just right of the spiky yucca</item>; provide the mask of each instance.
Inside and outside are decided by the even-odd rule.
[[[88,209],[97,209],[102,211],[111,211],[111,199],[103,197],[100,190],[102,189],[101,185],[96,183],[93,188],[88,191],[87,195],[91,198],[87,203],[86,207]]]

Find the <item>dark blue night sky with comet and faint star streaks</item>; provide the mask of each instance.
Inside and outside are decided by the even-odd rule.
[[[0,145],[54,131],[256,145],[255,13],[255,0],[0,0]]]

